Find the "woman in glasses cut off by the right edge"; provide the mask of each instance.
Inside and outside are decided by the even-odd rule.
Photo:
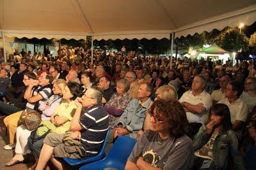
[[[254,106],[256,106],[256,78],[246,78],[244,88],[244,92],[241,94],[241,99],[247,104],[249,113],[251,113]]]

